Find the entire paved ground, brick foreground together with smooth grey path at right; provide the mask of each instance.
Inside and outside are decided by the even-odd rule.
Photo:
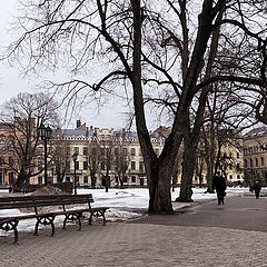
[[[0,237],[0,266],[267,267],[267,198],[228,198],[194,205],[185,214],[131,222],[50,229],[38,237]]]

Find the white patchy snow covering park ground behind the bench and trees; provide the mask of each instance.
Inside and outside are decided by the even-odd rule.
[[[192,188],[192,199],[195,201],[211,200],[216,199],[216,194],[206,194],[205,188]],[[228,188],[227,197],[234,195],[243,195],[248,192],[248,188]],[[128,219],[135,219],[140,216],[144,216],[148,208],[149,194],[148,189],[136,188],[136,189],[109,189],[106,192],[105,189],[78,189],[78,194],[92,194],[95,204],[92,207],[109,207],[109,210],[106,211],[107,220],[109,221],[123,221]],[[0,197],[12,196],[8,190],[0,190]],[[175,199],[179,196],[179,188],[175,189],[175,192],[171,192],[171,200],[174,209],[179,210],[180,208],[188,207],[191,204],[175,202]],[[0,210],[0,217],[7,215],[19,215],[22,214],[18,209],[10,210]],[[62,225],[63,217],[56,217],[56,226]],[[33,231],[34,229],[34,219],[21,220],[19,222],[19,231]],[[40,226],[41,228],[41,226]],[[1,235],[12,235],[12,233],[0,231]]]

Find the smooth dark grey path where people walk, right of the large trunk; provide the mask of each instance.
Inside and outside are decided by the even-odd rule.
[[[217,205],[215,200],[197,202],[168,219],[149,216],[138,222],[267,231],[267,192],[263,191],[259,199],[250,192],[227,197],[225,205]]]

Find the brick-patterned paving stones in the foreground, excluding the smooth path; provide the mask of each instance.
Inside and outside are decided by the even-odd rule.
[[[267,266],[267,233],[219,227],[108,224],[1,237],[1,267]]]

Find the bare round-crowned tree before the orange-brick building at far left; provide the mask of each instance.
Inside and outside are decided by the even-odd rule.
[[[55,126],[57,113],[55,102],[44,93],[19,93],[2,107],[1,120],[9,127],[9,141],[16,155],[18,179],[17,186],[36,176],[37,147],[39,136],[37,128],[43,122]]]

